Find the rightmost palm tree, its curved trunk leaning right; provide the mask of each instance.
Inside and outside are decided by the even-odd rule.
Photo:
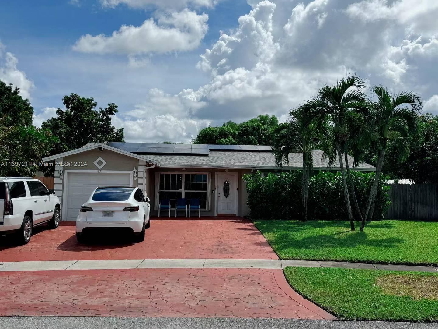
[[[383,160],[385,159],[386,145],[391,139],[399,152],[398,160],[403,162],[407,159],[410,146],[418,143],[421,132],[418,125],[418,115],[423,107],[420,97],[415,93],[401,92],[389,93],[384,86],[374,86],[376,101],[371,103],[371,116],[374,118],[376,135],[374,137],[378,149],[376,175],[370,196],[368,197],[367,209],[362,217],[360,231],[364,230],[365,221],[370,209],[375,202],[377,185],[380,179]]]

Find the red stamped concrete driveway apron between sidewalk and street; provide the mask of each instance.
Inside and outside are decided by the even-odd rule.
[[[0,273],[0,315],[336,319],[282,270],[131,269]]]

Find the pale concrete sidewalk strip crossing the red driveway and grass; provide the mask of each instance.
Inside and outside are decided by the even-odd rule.
[[[94,261],[14,261],[0,263],[0,272],[103,270],[131,268],[257,268],[283,269],[286,266],[362,268],[391,271],[419,271],[438,273],[438,267],[389,264],[348,263],[339,261],[287,261],[279,259],[120,259]]]

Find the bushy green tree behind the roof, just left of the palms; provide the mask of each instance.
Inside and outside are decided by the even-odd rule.
[[[273,130],[278,126],[275,115],[258,115],[246,122],[224,122],[222,126],[201,129],[193,144],[271,145]]]

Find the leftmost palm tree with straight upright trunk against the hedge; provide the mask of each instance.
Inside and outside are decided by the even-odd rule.
[[[289,112],[290,118],[282,122],[274,130],[272,137],[272,152],[276,158],[276,164],[283,168],[283,163],[289,164],[290,153],[303,154],[303,179],[302,179],[302,221],[307,221],[307,194],[309,190],[309,175],[313,168],[312,150],[316,149],[321,142],[315,129],[307,129],[301,125],[297,118],[297,110]]]

